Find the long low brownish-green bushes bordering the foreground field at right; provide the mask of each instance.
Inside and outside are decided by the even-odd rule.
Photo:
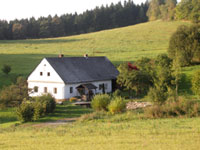
[[[163,105],[156,104],[148,107],[144,114],[147,118],[195,117],[200,115],[200,104],[179,98],[177,101],[168,101]]]

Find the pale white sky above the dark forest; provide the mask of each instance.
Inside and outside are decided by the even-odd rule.
[[[0,20],[14,20],[22,18],[35,18],[49,14],[58,16],[66,13],[82,13],[96,6],[114,4],[124,0],[2,0],[0,6]],[[133,0],[140,4],[146,0]]]

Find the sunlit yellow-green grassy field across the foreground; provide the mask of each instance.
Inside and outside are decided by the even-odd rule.
[[[196,150],[200,118],[140,119],[127,112],[62,126],[0,128],[0,139],[2,150]]]

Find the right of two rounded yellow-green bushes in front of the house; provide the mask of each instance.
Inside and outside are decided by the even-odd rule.
[[[126,108],[126,103],[121,97],[115,97],[108,106],[108,110],[112,114],[120,113]]]

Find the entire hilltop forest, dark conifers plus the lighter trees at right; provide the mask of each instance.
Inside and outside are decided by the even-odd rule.
[[[0,20],[0,40],[37,39],[77,35],[162,19],[200,21],[198,0],[133,0],[87,10],[81,14]]]

